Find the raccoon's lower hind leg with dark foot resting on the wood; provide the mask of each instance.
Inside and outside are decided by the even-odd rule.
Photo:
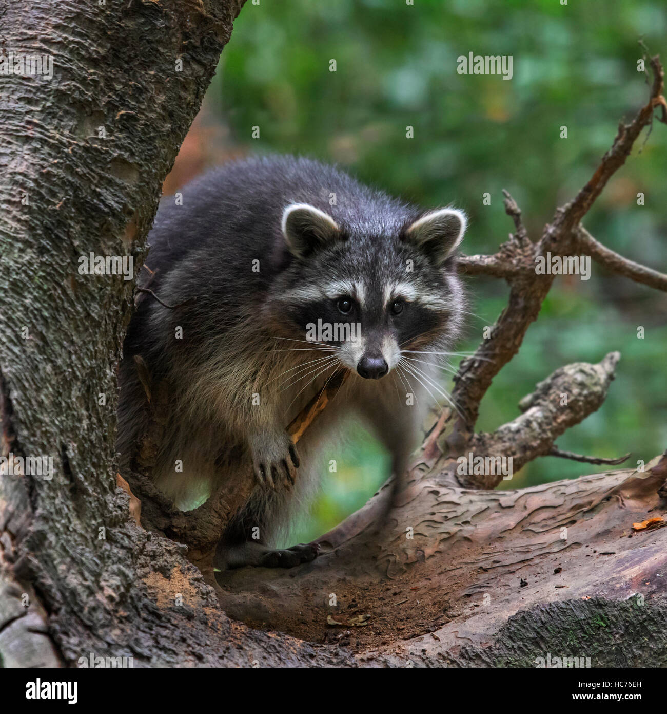
[[[275,549],[265,542],[270,514],[280,507],[280,496],[253,495],[240,515],[225,529],[215,548],[213,564],[220,570],[256,565],[260,568],[293,568],[317,558],[317,543],[299,543]],[[257,536],[257,537],[255,537]]]

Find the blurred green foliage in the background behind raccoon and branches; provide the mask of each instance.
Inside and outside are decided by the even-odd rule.
[[[417,203],[455,203],[471,216],[465,250],[491,253],[512,228],[502,188],[537,239],[554,208],[586,183],[618,120],[646,101],[638,39],[667,61],[666,18],[663,0],[248,0],[211,91],[235,146],[337,161]],[[457,57],[470,51],[511,55],[514,76],[457,74]],[[260,139],[251,139],[253,126]],[[585,219],[607,246],[659,270],[666,267],[666,129],[656,123],[643,148],[641,137]],[[490,206],[482,203],[486,192]],[[592,273],[590,281],[556,280],[519,355],[484,399],[479,428],[514,418],[519,399],[559,366],[618,350],[603,408],[559,446],[596,456],[631,451],[628,463],[636,464],[667,446],[667,296],[595,264]],[[507,293],[504,283],[484,279],[469,288],[477,317],[462,349],[476,346]],[[300,539],[361,506],[385,476],[386,460],[369,438],[337,456],[338,471],[325,480]],[[595,470],[543,458],[504,485]]]

